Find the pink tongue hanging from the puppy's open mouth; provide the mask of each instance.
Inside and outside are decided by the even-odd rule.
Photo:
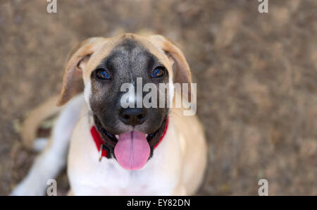
[[[141,169],[147,163],[150,152],[145,134],[135,130],[119,135],[114,149],[118,163],[127,170]]]

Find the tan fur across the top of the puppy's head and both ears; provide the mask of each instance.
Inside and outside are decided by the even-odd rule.
[[[85,68],[85,71],[82,72],[82,78],[85,82],[89,80],[92,70],[94,70],[94,68],[106,56],[108,56],[112,49],[116,47],[118,43],[122,42],[123,39],[127,38],[135,39],[141,42],[144,47],[146,47],[151,52],[151,54],[154,54],[160,59],[160,61],[167,67],[168,73],[173,76],[173,63],[171,63],[170,58],[168,58],[168,55],[170,55],[178,68],[174,82],[192,82],[192,75],[182,51],[180,51],[178,47],[175,47],[172,42],[169,42],[168,39],[165,39],[161,35],[141,37],[139,35],[127,33],[108,39],[102,37],[93,37],[82,42],[82,44],[76,48],[77,51],[73,52],[73,56],[70,56],[70,60],[66,66],[66,72],[63,78],[63,89],[58,100],[58,106],[65,104],[73,95],[78,93],[78,91],[75,91],[75,89],[78,89],[77,83],[73,81],[78,80],[78,77],[75,77],[75,72],[82,72],[80,63],[82,63],[81,61],[83,58],[89,56],[89,59],[87,59],[84,64],[87,66],[87,68]],[[168,54],[165,54],[165,52],[168,52]]]

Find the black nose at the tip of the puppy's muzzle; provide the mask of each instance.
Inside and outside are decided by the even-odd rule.
[[[120,121],[127,125],[140,125],[147,119],[147,109],[144,108],[128,108],[120,109]]]

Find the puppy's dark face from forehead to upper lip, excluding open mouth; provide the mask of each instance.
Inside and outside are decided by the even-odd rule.
[[[167,106],[137,108],[137,94],[133,96],[135,108],[122,107],[120,102],[125,92],[121,91],[121,87],[130,84],[136,92],[137,78],[139,81],[142,78],[142,84],[138,84],[142,85],[142,89],[150,82],[156,85],[157,95],[160,96],[159,83],[168,84],[169,75],[163,61],[151,54],[142,43],[129,38],[114,47],[90,74],[89,104],[92,113],[111,135],[131,130],[153,134],[159,130],[168,114]],[[145,94],[147,92],[142,92],[139,100],[142,101]],[[162,97],[165,97],[164,101],[169,100],[168,94]]]

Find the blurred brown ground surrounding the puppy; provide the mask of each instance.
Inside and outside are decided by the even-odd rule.
[[[209,141],[199,195],[317,195],[317,1],[0,0],[0,194],[27,174],[25,115],[61,90],[87,37],[152,31],[185,53]],[[58,194],[68,190],[64,172]]]

